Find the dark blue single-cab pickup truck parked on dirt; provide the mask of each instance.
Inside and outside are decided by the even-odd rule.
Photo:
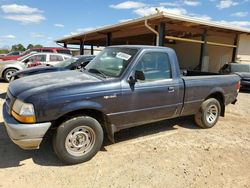
[[[37,149],[55,129],[53,148],[67,164],[91,159],[104,135],[114,142],[122,129],[194,115],[213,127],[236,102],[237,75],[180,73],[174,50],[155,46],[105,48],[81,72],[63,71],[13,81],[3,105],[14,143]],[[104,134],[106,133],[106,134]]]

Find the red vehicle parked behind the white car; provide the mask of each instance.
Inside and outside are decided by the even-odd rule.
[[[7,55],[0,57],[2,61],[17,60],[18,58],[29,54],[30,52],[51,52],[51,53],[61,53],[71,55],[71,51],[67,48],[53,48],[53,47],[43,47],[43,48],[30,48],[19,55]]]

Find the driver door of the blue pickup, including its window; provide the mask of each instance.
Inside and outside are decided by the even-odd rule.
[[[126,128],[179,115],[182,107],[183,82],[173,78],[166,52],[146,52],[132,72],[141,71],[144,80],[122,84],[123,111],[112,117],[115,124]]]

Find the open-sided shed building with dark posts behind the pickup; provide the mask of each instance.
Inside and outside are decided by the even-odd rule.
[[[199,18],[157,13],[56,42],[84,46],[140,44],[175,49],[182,69],[218,72],[227,62],[250,63],[250,30]]]

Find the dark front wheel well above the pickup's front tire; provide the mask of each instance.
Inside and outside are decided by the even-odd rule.
[[[103,131],[107,131],[108,117],[105,114],[103,114],[101,111],[94,110],[94,109],[84,109],[84,110],[76,110],[76,111],[69,112],[59,117],[57,120],[53,121],[52,128],[57,128],[64,121],[71,119],[73,117],[79,116],[79,115],[86,115],[86,116],[90,116],[96,119],[101,124]]]

